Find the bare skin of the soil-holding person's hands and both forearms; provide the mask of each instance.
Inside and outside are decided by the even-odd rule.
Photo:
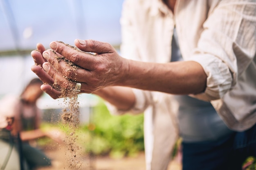
[[[127,87],[170,94],[197,94],[203,92],[206,87],[207,76],[201,65],[193,61],[144,63],[120,57],[117,51],[105,42],[75,40],[75,45],[81,51],[91,51],[97,55],[78,52],[56,41],[50,44],[59,56],[65,56],[81,67],[74,72],[70,71],[70,66],[65,62],[58,62],[52,50],[46,50],[43,54],[39,51],[31,52],[31,56],[39,64],[31,69],[41,80],[48,83],[42,85],[41,89],[53,98],[59,96],[59,92],[52,88],[53,80],[57,80],[62,88],[69,87],[69,81],[63,76],[81,82],[81,92],[97,94],[124,110],[135,103],[135,96]],[[43,49],[42,45],[39,44],[38,49]],[[43,63],[45,71],[40,67],[40,62],[45,61],[42,55],[48,61]],[[115,91],[114,86],[122,87]],[[120,89],[123,87],[126,87],[124,91]],[[115,95],[112,95],[113,92]],[[114,98],[110,99],[110,96]]]

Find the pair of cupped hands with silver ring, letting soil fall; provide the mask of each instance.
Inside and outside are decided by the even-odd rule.
[[[81,83],[82,93],[93,93],[103,87],[121,85],[128,71],[128,62],[119,56],[114,47],[95,40],[76,39],[74,43],[78,49],[54,41],[50,43],[51,49],[46,50],[38,43],[37,50],[31,52],[35,62],[31,70],[43,81],[43,91],[52,98],[59,98],[61,89],[74,87],[74,82]],[[58,59],[63,57],[79,68],[74,69],[64,60]],[[60,88],[54,89],[53,84]]]

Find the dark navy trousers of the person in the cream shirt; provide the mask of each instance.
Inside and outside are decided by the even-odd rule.
[[[183,170],[241,170],[249,156],[256,157],[256,125],[217,141],[182,142]]]

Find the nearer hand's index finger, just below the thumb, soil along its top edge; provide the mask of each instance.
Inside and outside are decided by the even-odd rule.
[[[99,63],[99,56],[92,53],[81,51],[76,47],[72,47],[63,42],[54,41],[50,43],[50,47],[58,52],[72,63],[88,70],[93,70],[95,63]]]

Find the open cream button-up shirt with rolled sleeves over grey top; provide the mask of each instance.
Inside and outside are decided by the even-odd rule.
[[[207,74],[205,92],[191,96],[211,101],[233,130],[256,123],[255,0],[177,0],[174,14],[162,0],[126,0],[121,26],[121,56],[156,63],[170,62],[175,26],[182,57]],[[177,139],[177,103],[171,94],[134,92],[135,106],[126,112],[145,114],[147,169],[163,170]]]

